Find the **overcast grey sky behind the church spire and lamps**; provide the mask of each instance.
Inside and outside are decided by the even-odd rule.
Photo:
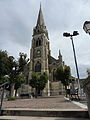
[[[90,0],[0,0],[0,50],[7,50],[16,59],[19,52],[30,57],[33,28],[42,4],[48,29],[51,55],[58,58],[59,49],[73,76],[76,68],[70,38],[64,32],[78,31],[73,37],[80,78],[87,77],[90,68],[90,36],[83,30],[90,20]]]

